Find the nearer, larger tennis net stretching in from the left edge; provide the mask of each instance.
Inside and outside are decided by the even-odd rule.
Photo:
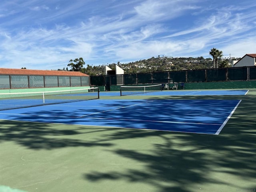
[[[99,92],[99,88],[96,87],[48,92],[2,93],[0,110],[98,99]]]

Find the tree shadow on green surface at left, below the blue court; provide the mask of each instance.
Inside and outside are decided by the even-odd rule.
[[[112,144],[110,142],[86,142],[77,139],[77,135],[84,134],[84,128],[69,128],[68,126],[54,126],[52,124],[43,124],[36,122],[20,122],[20,121],[1,121],[4,125],[1,127],[0,143],[3,141],[13,141],[22,146],[31,149],[47,149],[76,146],[106,146]],[[103,130],[95,130],[88,128],[86,133],[92,133]],[[74,138],[72,138],[74,136]]]

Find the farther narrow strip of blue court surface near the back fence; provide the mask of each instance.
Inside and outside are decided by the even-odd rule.
[[[163,96],[180,96],[180,95],[246,95],[248,90],[163,90],[163,91],[154,91],[154,92],[138,92],[138,91],[124,91],[124,94],[136,94],[136,95],[163,95]],[[120,92],[100,92],[100,96],[120,96]]]

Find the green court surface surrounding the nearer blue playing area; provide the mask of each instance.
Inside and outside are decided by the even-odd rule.
[[[0,192],[256,191],[255,91],[159,98],[242,102],[219,135],[0,120]]]

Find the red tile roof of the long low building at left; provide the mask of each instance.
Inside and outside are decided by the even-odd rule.
[[[51,75],[51,76],[89,76],[76,71],[58,71],[58,70],[31,70],[31,69],[9,69],[0,68],[0,75]]]

